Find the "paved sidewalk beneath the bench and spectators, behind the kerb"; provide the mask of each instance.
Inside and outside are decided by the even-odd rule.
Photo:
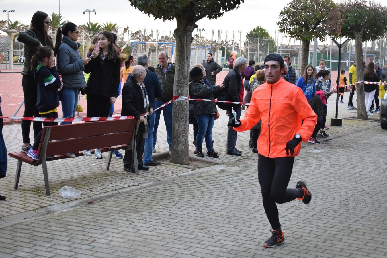
[[[345,97],[348,98],[348,96],[349,93],[346,92]],[[328,117],[333,116],[333,101],[329,102],[328,107]],[[354,116],[354,111],[346,109],[345,104],[341,104],[339,108],[340,116]],[[238,133],[236,147],[242,150],[242,156],[238,157],[226,154],[226,125],[228,117],[224,114],[224,110],[219,109],[219,111],[221,116],[215,121],[213,128],[214,148],[219,152],[219,159],[207,158],[228,165],[256,160],[257,154],[252,153],[252,149],[248,147],[249,132]],[[327,123],[329,125],[329,119]],[[377,126],[377,123],[373,121],[343,120],[342,127],[330,127],[327,133],[336,137],[345,133],[364,130],[370,126]],[[193,140],[192,125],[190,125],[190,131],[188,133],[190,137],[189,147],[192,153],[194,150],[194,146],[191,144]],[[22,142],[20,124],[4,126],[3,135],[8,152],[19,151]],[[31,139],[33,139],[32,126]],[[307,146],[310,144],[303,145]],[[156,149],[158,152],[168,150],[163,118],[160,120]],[[106,155],[104,154],[105,157]],[[0,180],[0,193],[8,197],[7,200],[0,202],[0,219],[3,216],[10,216],[20,212],[50,207],[50,205],[70,201],[58,194],[59,189],[63,186],[70,186],[82,191],[82,195],[78,197],[78,199],[82,199],[96,195],[104,195],[106,193],[116,193],[130,186],[162,182],[173,176],[184,176],[184,173],[191,170],[185,167],[163,164],[161,166],[151,167],[149,171],[140,171],[140,176],[135,176],[134,174],[123,171],[121,159],[113,157],[109,171],[104,170],[105,163],[106,159],[98,160],[94,156],[77,157],[75,160],[63,159],[48,162],[51,196],[46,196],[41,166],[35,167],[23,164],[21,173],[22,186],[19,186],[18,190],[13,189],[17,161],[9,157],[7,177]]]

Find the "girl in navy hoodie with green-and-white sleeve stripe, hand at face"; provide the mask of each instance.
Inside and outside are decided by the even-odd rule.
[[[54,61],[54,51],[46,46],[39,48],[36,55],[33,55],[31,58],[31,70],[34,70],[34,78],[38,84],[36,108],[38,108],[41,117],[58,117],[58,89],[61,88],[61,82]],[[58,123],[43,122],[43,126],[50,125],[58,125]],[[27,155],[28,157],[31,157],[31,159],[38,160],[37,154],[41,135],[42,131],[38,133],[34,144],[28,150]]]

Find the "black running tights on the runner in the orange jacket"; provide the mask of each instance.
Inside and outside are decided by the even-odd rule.
[[[301,196],[296,188],[287,188],[293,170],[294,157],[268,158],[258,154],[258,181],[262,202],[272,229],[279,229],[276,203],[290,202]]]

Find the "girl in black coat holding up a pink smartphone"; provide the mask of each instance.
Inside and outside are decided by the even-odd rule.
[[[111,33],[99,32],[91,60],[84,66],[84,72],[90,73],[85,89],[87,117],[109,116],[110,106],[116,101],[121,62],[125,59],[126,56],[118,52]],[[101,159],[101,150],[95,149],[94,155],[97,159]]]

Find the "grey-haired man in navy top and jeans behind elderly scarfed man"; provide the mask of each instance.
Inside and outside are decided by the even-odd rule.
[[[161,97],[163,92],[161,91],[161,84],[156,73],[148,70],[149,63],[148,57],[146,55],[140,55],[137,58],[137,65],[142,65],[147,75],[144,79],[145,88],[148,92],[149,97],[149,106],[154,109],[154,99],[156,97]],[[154,161],[152,159],[152,150],[153,150],[153,130],[154,130],[154,121],[155,113],[149,114],[149,137],[145,139],[144,145],[144,164],[146,166],[158,166],[161,163],[159,161]]]

